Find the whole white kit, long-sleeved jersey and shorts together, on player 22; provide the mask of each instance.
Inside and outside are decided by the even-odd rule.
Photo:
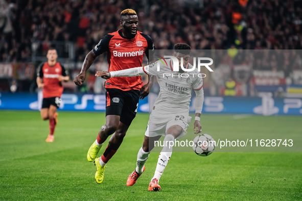
[[[189,108],[192,89],[196,90],[196,111],[201,113],[203,103],[202,74],[196,69],[179,73],[173,71],[172,61],[166,60],[165,66],[161,61],[144,67],[111,71],[111,77],[132,77],[149,74],[156,76],[160,90],[152,107],[148,127],[145,135],[154,137],[166,135],[167,130],[173,125],[179,125],[183,131],[176,138],[179,139],[187,133],[191,121]],[[157,69],[159,66],[159,69]],[[193,68],[191,64],[187,68]],[[197,96],[199,94],[199,96]]]

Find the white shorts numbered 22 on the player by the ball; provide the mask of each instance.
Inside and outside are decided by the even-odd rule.
[[[160,116],[161,117],[158,117],[151,113],[145,136],[165,136],[167,130],[172,127],[172,125],[179,125],[182,128],[182,133],[176,138],[177,140],[187,134],[187,129],[192,118],[191,116],[183,114],[169,114],[168,116]]]

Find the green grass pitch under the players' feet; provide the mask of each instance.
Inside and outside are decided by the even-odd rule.
[[[105,122],[104,113],[59,111],[58,120],[55,141],[46,143],[48,121],[42,121],[39,112],[0,111],[1,200],[302,199],[301,152],[214,152],[208,157],[173,153],[159,182],[161,191],[148,192],[159,154],[151,153],[141,178],[127,187],[148,121],[148,114],[142,113],[137,114],[98,185],[96,168],[86,154]],[[302,135],[300,116],[204,114],[201,122],[202,133],[209,134],[265,131]]]

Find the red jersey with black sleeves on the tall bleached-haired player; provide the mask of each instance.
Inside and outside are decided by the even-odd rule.
[[[152,39],[137,31],[135,37],[125,38],[122,30],[105,35],[93,49],[96,56],[107,52],[108,71],[117,71],[142,66],[144,53],[149,60],[149,49],[154,50]],[[142,80],[137,77],[110,78],[105,88],[116,88],[123,91],[140,90]]]

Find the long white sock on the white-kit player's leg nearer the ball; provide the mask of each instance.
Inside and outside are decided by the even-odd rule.
[[[170,160],[170,157],[172,155],[172,146],[169,146],[169,141],[174,141],[174,137],[173,135],[166,135],[165,139],[164,139],[164,143],[166,145],[166,141],[167,141],[167,146],[164,146],[159,154],[158,160],[157,160],[157,165],[156,165],[156,169],[155,169],[155,173],[153,178],[151,179],[151,181],[156,178],[160,179],[162,172],[164,172],[168,161]]]

